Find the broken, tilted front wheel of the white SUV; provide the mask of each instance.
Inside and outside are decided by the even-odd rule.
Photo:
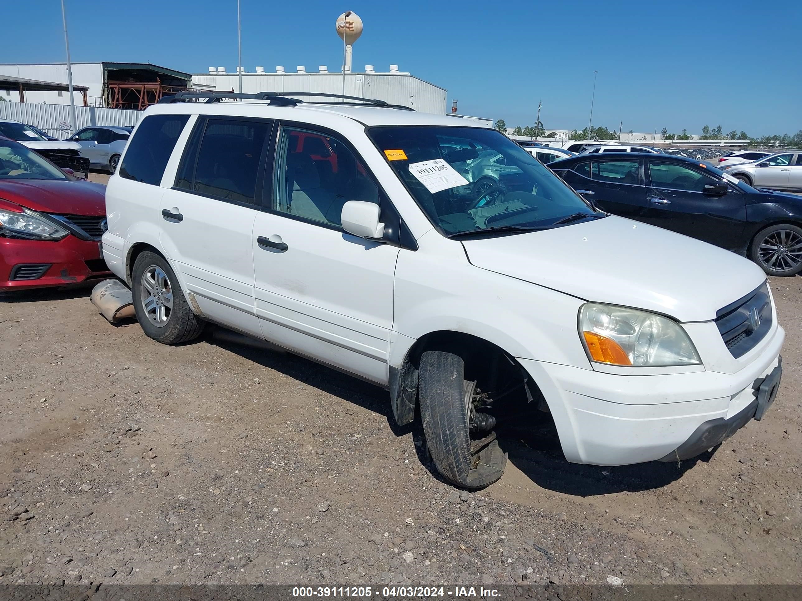
[[[471,440],[475,389],[475,381],[465,380],[461,357],[444,351],[421,355],[418,397],[429,454],[444,478],[468,489],[496,482],[507,465],[494,434]]]

